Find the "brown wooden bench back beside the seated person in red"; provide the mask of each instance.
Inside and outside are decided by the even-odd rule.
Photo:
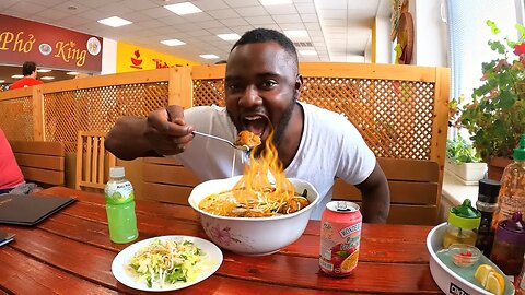
[[[65,146],[61,142],[10,141],[27,182],[42,187],[65,185]]]

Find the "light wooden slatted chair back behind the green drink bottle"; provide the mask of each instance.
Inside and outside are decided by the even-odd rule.
[[[116,157],[104,148],[103,131],[79,131],[77,141],[77,189],[104,189],[106,172],[115,166]]]

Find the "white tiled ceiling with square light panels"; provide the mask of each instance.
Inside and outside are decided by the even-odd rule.
[[[200,13],[177,15],[163,5],[190,1]],[[298,49],[313,49],[316,56],[302,61],[363,62],[377,16],[388,17],[389,0],[293,0],[281,5],[261,5],[259,0],[2,0],[0,13],[65,28],[122,40],[199,63],[199,57],[214,54],[226,59],[234,42],[217,34],[256,27],[278,31],[306,30],[308,36],[292,38]],[[132,24],[109,27],[97,20],[120,16]],[[163,39],[177,38],[183,46],[168,47]],[[306,47],[306,48],[303,48]]]

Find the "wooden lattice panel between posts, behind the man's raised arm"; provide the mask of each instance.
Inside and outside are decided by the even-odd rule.
[[[148,116],[167,105],[167,82],[104,86],[44,95],[46,141],[75,152],[80,130],[107,132],[122,116]]]

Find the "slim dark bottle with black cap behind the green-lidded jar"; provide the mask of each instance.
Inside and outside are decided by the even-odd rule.
[[[490,257],[492,244],[494,243],[494,231],[492,231],[492,215],[498,208],[498,193],[500,181],[493,179],[481,179],[478,186],[478,201],[476,208],[481,213],[481,222],[478,227],[476,248],[481,250],[486,257]]]

